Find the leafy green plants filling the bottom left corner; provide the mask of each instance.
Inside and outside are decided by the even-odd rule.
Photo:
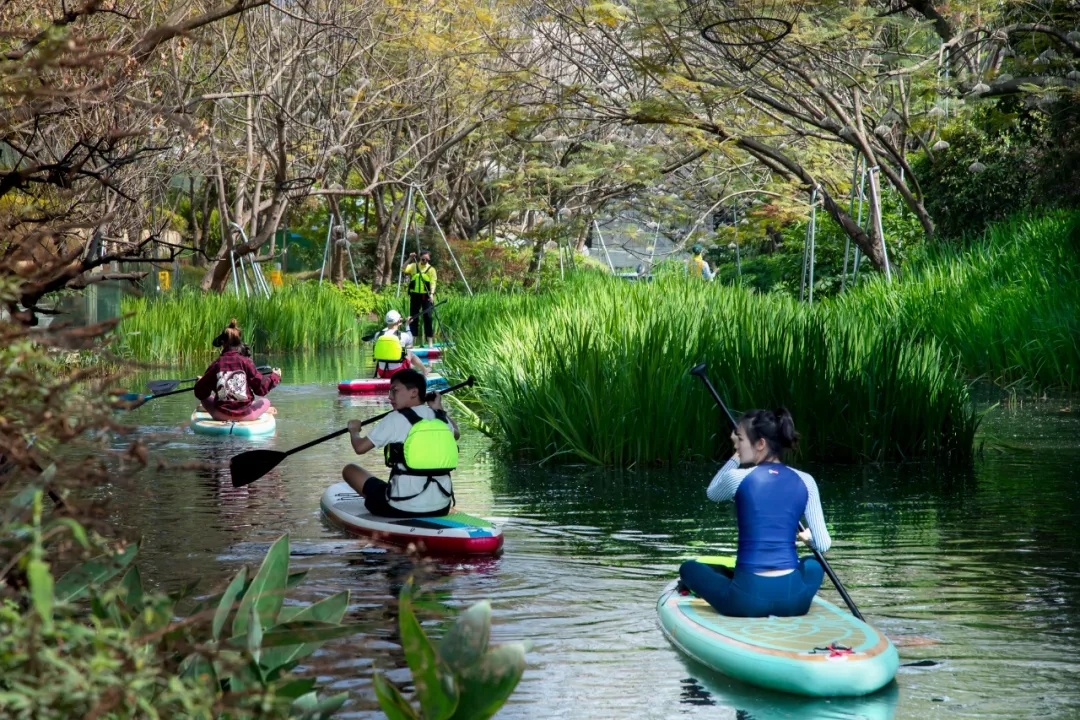
[[[0,602],[3,717],[316,720],[345,704],[346,693],[320,699],[313,679],[289,676],[323,642],[359,626],[341,624],[348,592],[283,607],[287,588],[302,579],[288,573],[287,535],[251,582],[242,568],[225,593],[177,621],[183,597],[143,588],[131,565],[137,545],[109,548],[70,518],[43,524],[42,497],[33,487],[19,493],[2,527],[5,544],[23,543],[15,570],[26,578]],[[19,520],[27,510],[30,519]],[[62,538],[106,553],[54,582],[44,558]]]

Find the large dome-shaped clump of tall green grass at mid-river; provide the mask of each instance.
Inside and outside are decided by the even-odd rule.
[[[627,466],[730,452],[726,421],[687,375],[702,361],[732,408],[789,408],[802,459],[972,452],[977,422],[956,364],[894,325],[679,276],[590,274],[447,308],[458,329],[447,364],[476,376],[490,433],[524,459]]]

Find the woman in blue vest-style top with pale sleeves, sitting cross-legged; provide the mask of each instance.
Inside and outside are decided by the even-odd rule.
[[[688,560],[679,568],[679,578],[721,615],[805,615],[821,587],[824,569],[813,557],[799,559],[795,539],[821,553],[832,541],[818,485],[811,476],[780,462],[781,454],[798,443],[795,423],[784,408],[751,410],[739,420],[731,439],[735,456],[713,477],[707,495],[714,502],[735,501],[739,554],[734,576]],[[800,533],[804,516],[809,530]]]

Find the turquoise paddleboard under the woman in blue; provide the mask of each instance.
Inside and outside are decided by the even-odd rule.
[[[734,566],[734,558],[724,560]],[[820,596],[797,617],[727,617],[681,595],[677,584],[660,594],[660,627],[672,644],[718,673],[813,697],[868,695],[896,675],[900,656],[889,638]]]

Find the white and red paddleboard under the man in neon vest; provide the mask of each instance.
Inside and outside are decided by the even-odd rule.
[[[394,545],[445,555],[495,555],[502,548],[502,530],[464,513],[404,519],[372,515],[348,483],[326,488],[320,504],[323,514],[346,530]]]

